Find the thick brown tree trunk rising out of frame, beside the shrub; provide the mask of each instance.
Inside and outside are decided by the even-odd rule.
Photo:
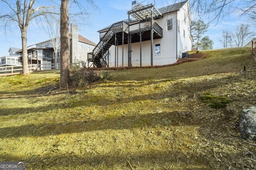
[[[61,0],[60,7],[60,88],[69,83],[69,0]]]

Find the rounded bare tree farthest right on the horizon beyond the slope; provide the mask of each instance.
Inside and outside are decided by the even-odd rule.
[[[249,29],[249,25],[238,25],[232,33],[232,43],[236,47],[243,47],[253,36]]]

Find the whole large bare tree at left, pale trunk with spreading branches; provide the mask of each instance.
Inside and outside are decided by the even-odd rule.
[[[0,12],[0,20],[5,27],[9,23],[18,24],[22,39],[22,74],[29,74],[27,33],[30,21],[38,16],[53,13],[53,6],[38,6],[34,8],[36,0],[1,0],[6,4],[6,10]]]

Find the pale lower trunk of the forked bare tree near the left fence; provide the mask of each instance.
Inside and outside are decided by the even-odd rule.
[[[28,70],[28,49],[27,49],[27,30],[22,30],[22,74],[30,74]]]

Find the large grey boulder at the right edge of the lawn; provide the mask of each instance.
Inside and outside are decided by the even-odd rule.
[[[256,141],[256,107],[243,109],[239,114],[239,131],[244,139]]]

